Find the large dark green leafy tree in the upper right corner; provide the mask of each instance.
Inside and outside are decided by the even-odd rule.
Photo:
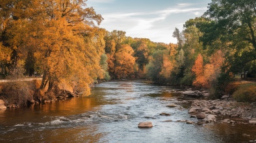
[[[246,63],[256,60],[255,7],[255,1],[213,0],[204,14],[215,23],[215,32],[205,36],[215,35],[231,47],[227,58],[230,71],[242,71]]]

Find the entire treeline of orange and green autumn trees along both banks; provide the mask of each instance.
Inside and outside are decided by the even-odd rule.
[[[95,80],[149,78],[212,88],[216,98],[235,74],[255,77],[256,1],[212,0],[203,16],[170,34],[177,44],[99,28],[103,17],[85,2],[3,0],[1,76],[36,72],[40,92],[65,86],[84,95]]]

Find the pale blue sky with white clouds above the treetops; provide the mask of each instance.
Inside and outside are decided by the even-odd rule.
[[[177,43],[175,27],[183,30],[188,19],[201,16],[211,0],[88,0],[104,18],[99,27],[109,32],[122,30],[132,38]]]

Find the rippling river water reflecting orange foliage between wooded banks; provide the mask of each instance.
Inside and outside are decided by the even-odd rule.
[[[0,110],[0,142],[249,142],[256,126],[186,124],[190,104],[181,87],[146,81],[105,82],[86,98]],[[188,99],[186,99],[188,100]],[[183,103],[183,104],[181,104]],[[166,107],[177,104],[175,108]],[[170,116],[161,116],[168,113]],[[164,122],[172,120],[172,122]],[[153,127],[138,128],[151,121]]]

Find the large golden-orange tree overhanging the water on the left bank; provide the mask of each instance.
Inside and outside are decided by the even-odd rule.
[[[93,8],[86,8],[83,0],[41,1],[34,19],[34,36],[37,46],[34,56],[43,71],[40,89],[47,93],[59,85],[71,87],[86,96],[90,84],[103,78],[100,59],[104,53],[104,31],[95,25],[102,17]],[[36,4],[36,3],[35,3]],[[41,23],[41,24],[40,24]]]

